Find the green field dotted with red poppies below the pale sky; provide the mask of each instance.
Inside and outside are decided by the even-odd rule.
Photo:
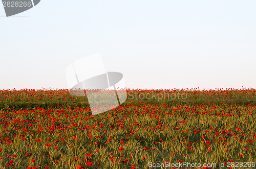
[[[0,90],[0,168],[256,168],[255,92],[128,89],[92,115],[67,89]]]

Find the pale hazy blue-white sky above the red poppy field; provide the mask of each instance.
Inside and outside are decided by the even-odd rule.
[[[6,17],[0,89],[67,88],[100,53],[128,88],[256,88],[256,1],[55,0]]]

